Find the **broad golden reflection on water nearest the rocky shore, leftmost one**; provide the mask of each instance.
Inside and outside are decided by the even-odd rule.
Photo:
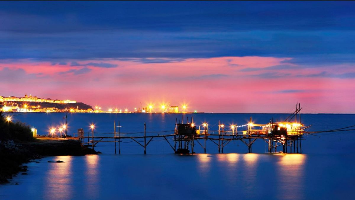
[[[47,188],[44,190],[44,199],[72,199],[72,165],[71,156],[57,156],[54,160],[64,163],[48,163]]]

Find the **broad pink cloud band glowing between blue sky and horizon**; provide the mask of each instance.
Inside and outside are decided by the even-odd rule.
[[[274,57],[146,59],[166,62],[65,60],[66,65],[52,65],[29,59],[0,61],[0,71],[25,72],[11,73],[13,81],[0,84],[0,95],[73,99],[104,109],[133,110],[140,102],[165,101],[171,105],[189,102],[191,110],[205,112],[287,112],[301,102],[325,112],[355,112],[354,78],[341,76],[353,73],[353,66],[302,68],[290,63],[291,58]],[[80,66],[70,66],[71,62]],[[282,67],[273,68],[278,65]]]

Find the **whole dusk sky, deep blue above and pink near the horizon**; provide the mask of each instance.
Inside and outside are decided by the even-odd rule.
[[[0,95],[355,113],[353,1],[1,1]]]

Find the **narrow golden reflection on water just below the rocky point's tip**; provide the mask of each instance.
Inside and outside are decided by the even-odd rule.
[[[99,194],[99,156],[98,155],[89,155],[85,156],[86,161],[86,194],[89,198],[96,199]]]

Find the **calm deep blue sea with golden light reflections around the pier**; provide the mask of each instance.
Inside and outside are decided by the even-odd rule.
[[[83,128],[91,136],[169,135],[176,122],[188,119],[197,127],[208,123],[209,133],[218,123],[230,125],[283,121],[289,114],[147,114],[147,113],[11,113],[13,120],[48,135],[50,128],[68,121],[68,135]],[[293,119],[294,120],[294,119]],[[299,120],[299,118],[297,118]],[[307,131],[327,131],[355,125],[355,114],[302,114]],[[118,127],[120,125],[120,127]],[[311,126],[312,125],[312,126]],[[116,130],[115,130],[116,126]],[[354,127],[351,127],[354,128]],[[347,128],[347,129],[351,129]],[[120,129],[120,130],[119,130]],[[245,130],[238,127],[237,131]],[[58,128],[57,135],[60,135]],[[122,139],[99,142],[99,155],[45,157],[27,163],[28,175],[18,174],[0,185],[0,199],[353,199],[355,191],[355,131],[306,134],[302,154],[268,153],[257,140],[248,153],[241,141],[232,141],[218,153],[207,142],[206,154],[195,142],[194,155],[174,154],[162,137],[144,148]],[[169,139],[169,138],[167,138]],[[87,140],[87,139],[85,139]],[[142,139],[137,139],[143,142]],[[173,141],[168,140],[171,144]],[[85,141],[84,141],[85,142]],[[282,149],[278,149],[281,151]],[[62,160],[64,163],[48,163]],[[15,185],[18,183],[18,185]]]

